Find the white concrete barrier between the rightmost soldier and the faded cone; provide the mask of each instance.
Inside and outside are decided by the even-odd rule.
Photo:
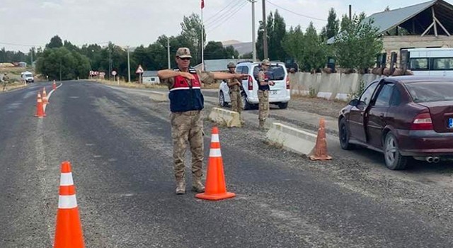
[[[286,150],[308,156],[316,145],[316,135],[281,123],[272,123],[266,137]]]

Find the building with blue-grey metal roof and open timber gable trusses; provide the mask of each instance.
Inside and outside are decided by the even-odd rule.
[[[432,0],[382,11],[368,16],[364,21],[369,19],[379,28],[387,64],[392,52],[396,52],[397,61],[400,61],[403,49],[453,47],[453,5],[447,1]],[[328,44],[334,42],[334,37],[327,41]]]

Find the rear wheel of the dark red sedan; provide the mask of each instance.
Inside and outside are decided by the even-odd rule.
[[[408,157],[399,152],[398,142],[391,132],[387,133],[384,139],[384,160],[386,167],[391,170],[405,169],[408,162]]]

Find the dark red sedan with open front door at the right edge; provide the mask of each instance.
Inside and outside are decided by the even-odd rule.
[[[430,163],[453,159],[453,79],[417,76],[373,81],[338,117],[340,145],[384,153],[389,169],[409,157]]]

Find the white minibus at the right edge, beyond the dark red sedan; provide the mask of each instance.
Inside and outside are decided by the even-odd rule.
[[[453,48],[412,48],[407,52],[407,68],[414,75],[453,77]]]

